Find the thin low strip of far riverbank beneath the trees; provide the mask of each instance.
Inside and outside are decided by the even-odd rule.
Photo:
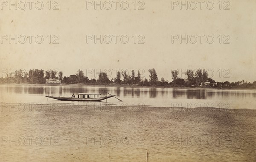
[[[175,88],[175,89],[219,89],[219,90],[256,90],[256,88],[215,88],[215,87],[185,87],[185,86],[138,86],[138,85],[127,85],[127,84],[0,84],[1,85],[12,85],[12,86],[61,86],[61,87],[128,87],[128,88]]]

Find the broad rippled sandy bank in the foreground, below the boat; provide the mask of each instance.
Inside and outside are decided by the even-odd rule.
[[[1,137],[17,137],[17,145],[3,142],[0,161],[256,160],[256,110],[250,109],[63,104],[51,111],[7,109],[0,124]]]

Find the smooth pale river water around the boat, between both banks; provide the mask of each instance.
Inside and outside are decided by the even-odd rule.
[[[175,89],[175,88],[133,88],[133,87],[67,87],[67,86],[28,86],[1,85],[0,99],[6,103],[73,103],[88,104],[88,102],[58,101],[44,95],[71,97],[74,93],[101,93],[102,90],[123,100],[109,98],[107,103],[150,106],[213,106],[231,109],[256,109],[255,90],[220,90],[220,89]],[[106,100],[96,102],[105,104]]]

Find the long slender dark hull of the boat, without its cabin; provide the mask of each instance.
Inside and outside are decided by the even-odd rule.
[[[114,97],[115,95],[109,95],[105,97],[99,97],[99,98],[68,98],[68,97],[55,97],[55,96],[45,96],[48,98],[53,98],[56,100],[61,100],[61,101],[102,101],[111,97]]]

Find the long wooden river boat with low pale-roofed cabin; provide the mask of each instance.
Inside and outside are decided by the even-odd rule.
[[[108,96],[101,97],[100,95],[101,95],[100,93],[79,93],[75,98],[55,97],[55,96],[49,96],[49,95],[46,95],[45,97],[53,98],[61,101],[102,101],[115,96],[115,95],[108,95]]]

